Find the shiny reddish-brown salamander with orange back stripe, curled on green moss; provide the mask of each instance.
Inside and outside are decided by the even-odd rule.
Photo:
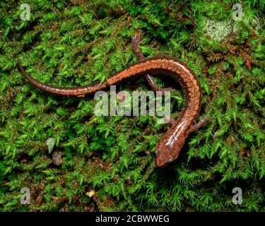
[[[158,85],[155,83],[152,76],[167,76],[173,78],[182,86],[185,101],[184,107],[182,108],[182,112],[177,121],[170,119],[172,128],[165,133],[163,138],[160,139],[158,145],[156,145],[155,163],[158,167],[165,167],[169,162],[177,159],[179,151],[184,145],[189,133],[192,133],[192,131],[201,127],[206,121],[208,121],[208,119],[204,118],[197,124],[194,124],[201,109],[201,85],[192,69],[182,61],[170,57],[152,57],[149,59],[143,59],[138,48],[140,42],[141,39],[139,38],[139,33],[136,33],[133,40],[133,49],[140,61],[115,73],[102,84],[85,85],[76,88],[59,88],[35,80],[25,72],[20,61],[18,61],[18,68],[28,81],[37,88],[49,93],[66,96],[84,96],[90,93],[95,93],[98,90],[123,82],[126,79],[136,78],[136,76],[145,76],[153,90],[162,90],[158,88]]]

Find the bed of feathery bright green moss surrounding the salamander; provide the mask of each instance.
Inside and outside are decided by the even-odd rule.
[[[208,37],[207,21],[230,21],[234,1],[23,1],[30,21],[20,20],[22,1],[1,1],[0,210],[264,211],[265,3],[241,2],[235,35],[228,26]],[[259,26],[248,22],[254,18]],[[93,97],[47,94],[16,68],[20,57],[43,83],[102,82],[137,61],[131,38],[139,28],[144,57],[165,54],[192,67],[204,95],[200,118],[210,118],[165,169],[153,160],[167,128],[154,117],[95,117]],[[150,88],[140,79],[118,89]],[[172,96],[177,117],[181,90]],[[237,186],[242,205],[232,203]],[[23,187],[30,205],[20,204]]]

